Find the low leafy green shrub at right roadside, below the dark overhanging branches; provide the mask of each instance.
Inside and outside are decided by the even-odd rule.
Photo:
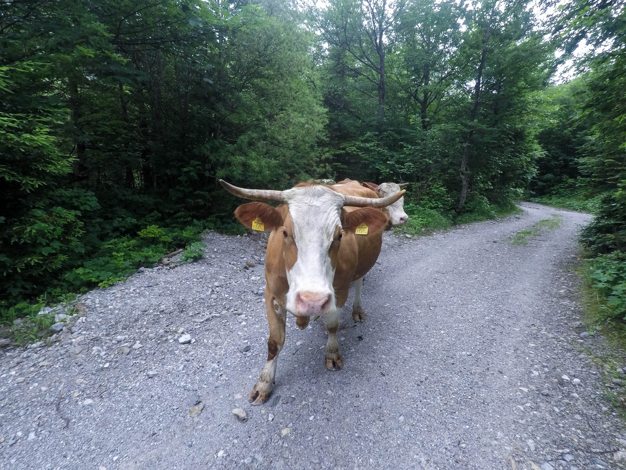
[[[587,261],[593,288],[602,297],[600,310],[610,318],[626,316],[626,253],[613,251]]]

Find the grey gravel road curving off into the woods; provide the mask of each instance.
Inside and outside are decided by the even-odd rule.
[[[626,432],[584,354],[600,339],[579,336],[570,269],[590,217],[522,208],[385,234],[365,323],[351,299],[342,312],[343,370],[324,367],[322,322],[292,318],[260,407],[265,238],[210,232],[197,263],[83,296],[57,342],[0,349],[0,468],[618,468]],[[557,229],[508,241],[552,214]]]

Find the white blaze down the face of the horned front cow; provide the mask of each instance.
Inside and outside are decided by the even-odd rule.
[[[341,227],[344,196],[324,186],[295,187],[283,192],[294,221],[295,246],[298,258],[287,271],[287,310],[297,314],[297,293],[309,291],[330,296],[331,309],[336,309],[329,249],[337,226]]]

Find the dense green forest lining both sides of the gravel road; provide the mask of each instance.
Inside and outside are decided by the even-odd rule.
[[[625,2],[561,3],[1,2],[0,318],[242,230],[220,178],[345,177],[411,182],[413,232],[592,211],[623,316]]]

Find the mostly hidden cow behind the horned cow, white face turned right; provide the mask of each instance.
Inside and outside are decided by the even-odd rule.
[[[351,194],[352,196],[365,196],[365,191],[368,189],[374,191],[377,197],[388,197],[393,194],[397,194],[400,191],[400,187],[406,186],[409,183],[359,183],[357,180],[346,178],[332,187],[336,191],[342,194]],[[393,204],[384,207],[382,212],[389,217],[389,223],[386,230],[390,230],[391,227],[397,227],[406,224],[409,220],[409,216],[404,212],[404,197],[398,199]],[[382,238],[381,238],[382,243]],[[363,286],[363,278],[356,279],[354,281],[354,302],[352,303],[352,319],[354,321],[365,321],[365,312],[361,303],[361,288]]]

